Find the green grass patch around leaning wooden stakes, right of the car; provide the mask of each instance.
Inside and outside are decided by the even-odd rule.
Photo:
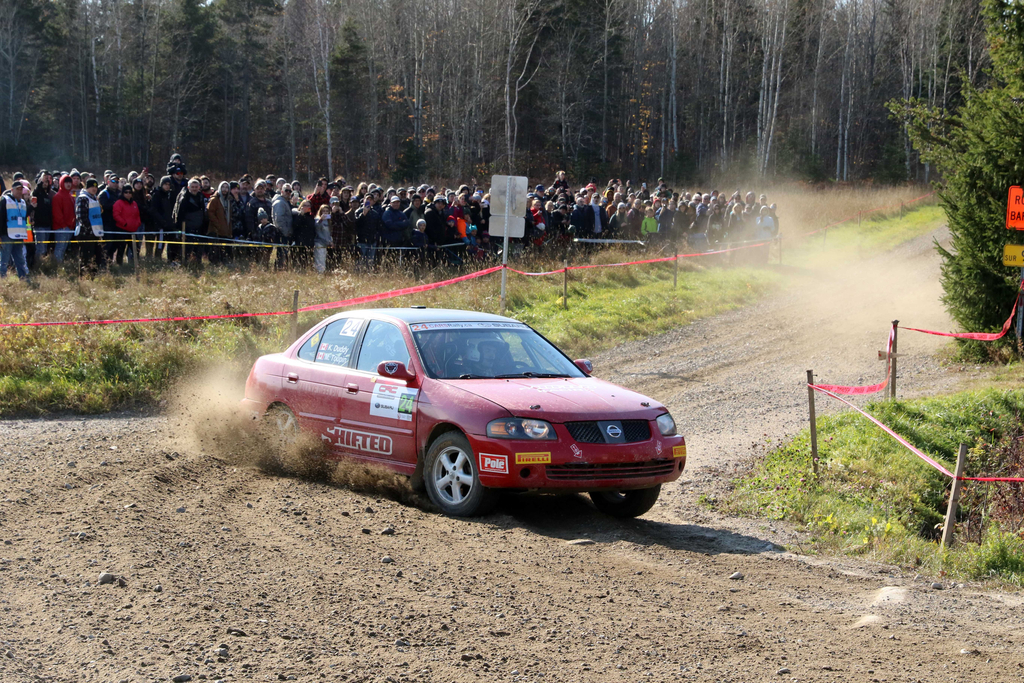
[[[1019,475],[1024,390],[879,401],[866,410],[950,471],[965,442],[968,476]],[[805,430],[768,452],[725,505],[741,514],[804,525],[816,551],[868,554],[924,565],[936,574],[996,577],[1020,585],[1024,541],[1020,510],[1011,509],[1019,505],[1013,503],[1019,499],[1015,484],[965,482],[957,527],[965,542],[943,552],[935,540],[948,501],[947,477],[856,413],[819,419],[817,477],[809,438]]]

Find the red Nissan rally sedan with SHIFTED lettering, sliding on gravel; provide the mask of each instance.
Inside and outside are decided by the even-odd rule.
[[[636,517],[682,474],[686,442],[664,405],[592,372],[508,317],[356,310],[256,360],[243,407],[412,476],[446,514],[482,514],[506,489],[588,492]]]

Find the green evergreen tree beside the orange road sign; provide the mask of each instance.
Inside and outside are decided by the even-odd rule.
[[[942,255],[943,303],[965,331],[998,330],[1010,312],[1020,271],[1002,265],[1002,247],[1024,243],[1007,230],[1007,190],[1024,182],[1024,12],[1017,0],[985,0],[990,82],[969,88],[953,115],[920,100],[893,102],[908,124],[922,159],[941,171],[939,198],[949,224]],[[964,342],[969,357],[1007,352],[1001,345]]]

